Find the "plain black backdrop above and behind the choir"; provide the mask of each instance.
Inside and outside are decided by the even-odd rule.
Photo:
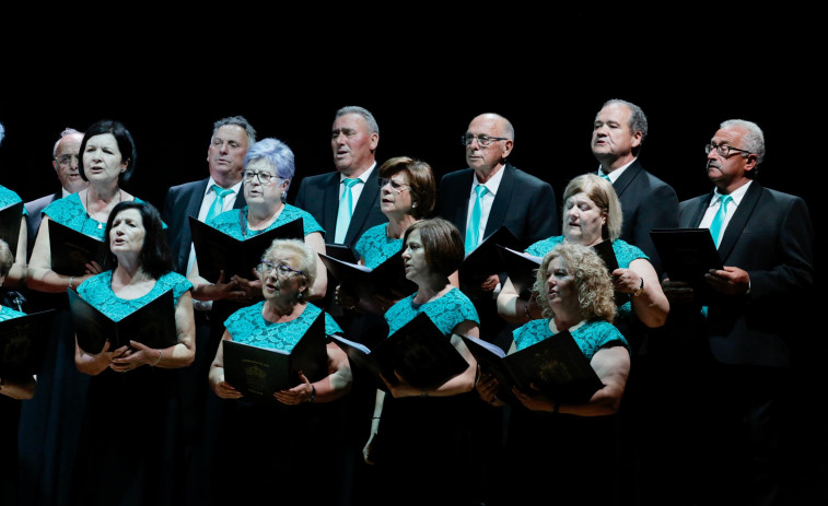
[[[810,414],[812,385],[823,383],[818,357],[828,349],[814,318],[825,304],[828,45],[820,21],[786,5],[651,5],[642,14],[457,4],[462,15],[451,16],[445,8],[339,5],[320,20],[322,12],[221,4],[199,7],[205,22],[155,11],[149,21],[127,22],[105,10],[51,26],[39,16],[0,14],[7,25],[36,21],[13,37],[0,33],[0,184],[24,200],[54,192],[50,158],[60,131],[113,118],[138,148],[126,189],[161,207],[170,186],[207,177],[213,121],[243,115],[259,139],[276,137],[293,149],[292,201],[302,177],[334,168],[336,110],[361,105],[380,125],[380,163],[409,155],[438,176],[466,166],[459,137],[471,118],[499,113],[515,128],[510,162],[551,183],[560,204],[569,179],[597,168],[588,144],[595,114],[606,99],[625,98],[650,122],[642,164],[684,200],[712,188],[703,146],[719,123],[755,121],[768,150],[759,180],[803,197],[814,221],[816,295],[790,294],[802,301],[801,313],[768,318],[813,319],[819,328],[792,343],[803,386],[800,433],[814,455],[798,466],[819,461],[826,431],[808,428],[821,420]]]

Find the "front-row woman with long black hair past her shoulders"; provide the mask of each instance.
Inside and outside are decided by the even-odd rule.
[[[78,458],[66,504],[172,504],[184,480],[179,375],[195,358],[193,284],[173,270],[161,215],[150,203],[119,202],[105,227],[102,272],[80,286],[82,299],[118,321],[167,292],[175,343],[138,340],[84,350],[74,363],[90,379]],[[67,476],[62,476],[65,480]]]

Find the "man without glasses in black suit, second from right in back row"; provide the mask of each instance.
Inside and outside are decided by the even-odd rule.
[[[599,176],[608,176],[621,201],[621,239],[641,248],[662,273],[662,264],[650,238],[653,228],[675,228],[678,197],[672,186],[644,170],[638,156],[648,133],[641,107],[627,101],[607,101],[595,116],[592,153]]]

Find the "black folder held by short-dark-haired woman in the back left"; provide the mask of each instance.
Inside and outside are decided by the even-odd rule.
[[[49,251],[53,271],[63,275],[83,275],[86,263],[93,260],[103,262],[106,243],[50,220]]]

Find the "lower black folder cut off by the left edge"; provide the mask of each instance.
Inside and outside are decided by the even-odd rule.
[[[0,321],[0,377],[40,372],[55,315],[55,309],[47,309]]]

